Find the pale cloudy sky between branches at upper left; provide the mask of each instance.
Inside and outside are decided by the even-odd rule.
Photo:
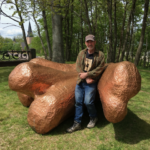
[[[13,11],[11,11],[8,8],[5,8],[5,7],[3,7],[2,10],[6,14],[9,14],[9,15],[11,15],[13,13]],[[17,36],[19,34],[22,34],[22,30],[21,30],[20,27],[10,26],[9,24],[4,24],[4,23],[11,23],[11,24],[15,24],[15,25],[18,26],[17,22],[1,15],[0,16],[0,35],[2,37],[8,37],[8,38],[13,39],[15,36]],[[34,31],[35,30],[35,23],[32,20],[30,20],[30,23],[31,23],[32,31]],[[24,23],[26,34],[27,34],[27,31],[28,31],[28,25],[29,25],[29,21],[26,21]],[[7,27],[7,26],[10,26],[10,27]]]

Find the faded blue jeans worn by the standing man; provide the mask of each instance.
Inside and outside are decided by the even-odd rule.
[[[83,104],[85,104],[89,116],[91,118],[97,117],[97,112],[94,104],[97,90],[97,83],[87,84],[81,82],[75,88],[75,117],[74,121],[81,123],[83,116]]]

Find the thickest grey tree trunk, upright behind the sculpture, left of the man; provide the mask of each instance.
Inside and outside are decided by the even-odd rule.
[[[58,6],[58,5],[57,5]],[[55,10],[56,8],[56,10]],[[55,6],[52,13],[52,38],[53,38],[53,57],[52,61],[64,63],[63,41],[62,41],[62,16]]]

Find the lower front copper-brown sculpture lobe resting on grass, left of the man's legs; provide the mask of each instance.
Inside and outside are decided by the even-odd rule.
[[[28,123],[37,133],[47,133],[74,113],[76,77],[52,85],[37,96],[28,112]]]

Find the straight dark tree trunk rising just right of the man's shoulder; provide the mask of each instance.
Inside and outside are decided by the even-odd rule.
[[[108,17],[109,17],[109,51],[108,51],[108,63],[112,62],[113,49],[112,49],[112,0],[107,0]]]

